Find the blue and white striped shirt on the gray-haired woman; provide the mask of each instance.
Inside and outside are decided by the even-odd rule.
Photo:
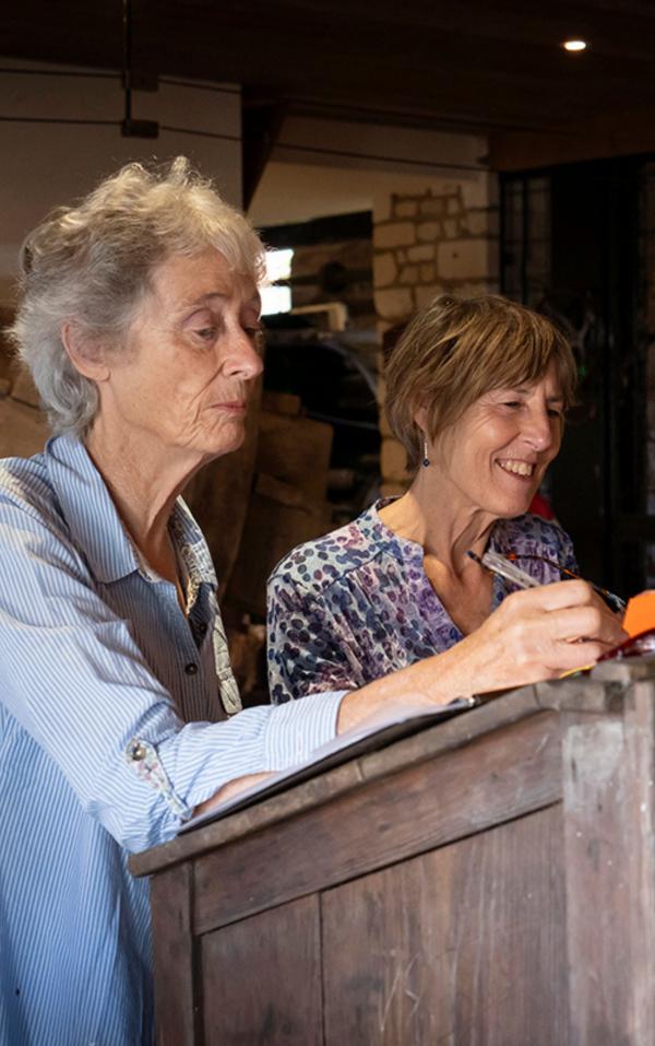
[[[181,501],[170,530],[188,618],[81,443],[0,462],[2,1044],[152,1043],[148,889],[129,853],[335,732],[338,693],[226,718],[216,577]]]

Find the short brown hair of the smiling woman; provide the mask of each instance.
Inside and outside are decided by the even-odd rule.
[[[407,468],[418,468],[422,457],[422,433],[414,420],[421,406],[434,439],[485,392],[538,381],[551,362],[564,408],[571,407],[573,352],[545,316],[497,294],[434,298],[410,320],[385,368],[384,409],[393,435],[407,451]]]

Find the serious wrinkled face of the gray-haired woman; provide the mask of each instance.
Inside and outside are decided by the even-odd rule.
[[[126,351],[111,360],[102,410],[171,455],[235,450],[262,369],[257,287],[214,249],[169,258],[151,282]]]

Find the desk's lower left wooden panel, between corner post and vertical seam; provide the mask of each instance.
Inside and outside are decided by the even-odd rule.
[[[318,897],[202,939],[206,1046],[319,1046]]]

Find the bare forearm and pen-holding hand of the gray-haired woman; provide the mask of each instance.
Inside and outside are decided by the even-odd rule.
[[[337,731],[371,720],[385,706],[445,705],[455,697],[553,679],[595,663],[626,638],[619,618],[586,581],[514,592],[450,650],[348,694]]]

